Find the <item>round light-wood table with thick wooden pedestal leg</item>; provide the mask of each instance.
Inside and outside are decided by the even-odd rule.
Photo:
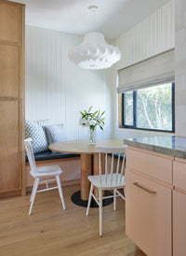
[[[81,196],[79,199],[82,206],[86,206],[88,201],[90,182],[87,177],[99,174],[99,151],[97,149],[99,146],[125,147],[122,141],[113,139],[97,140],[96,145],[89,145],[87,140],[68,140],[49,145],[49,149],[53,151],[81,154]],[[104,157],[101,158],[101,164],[104,166]],[[98,197],[98,190],[94,193]]]

